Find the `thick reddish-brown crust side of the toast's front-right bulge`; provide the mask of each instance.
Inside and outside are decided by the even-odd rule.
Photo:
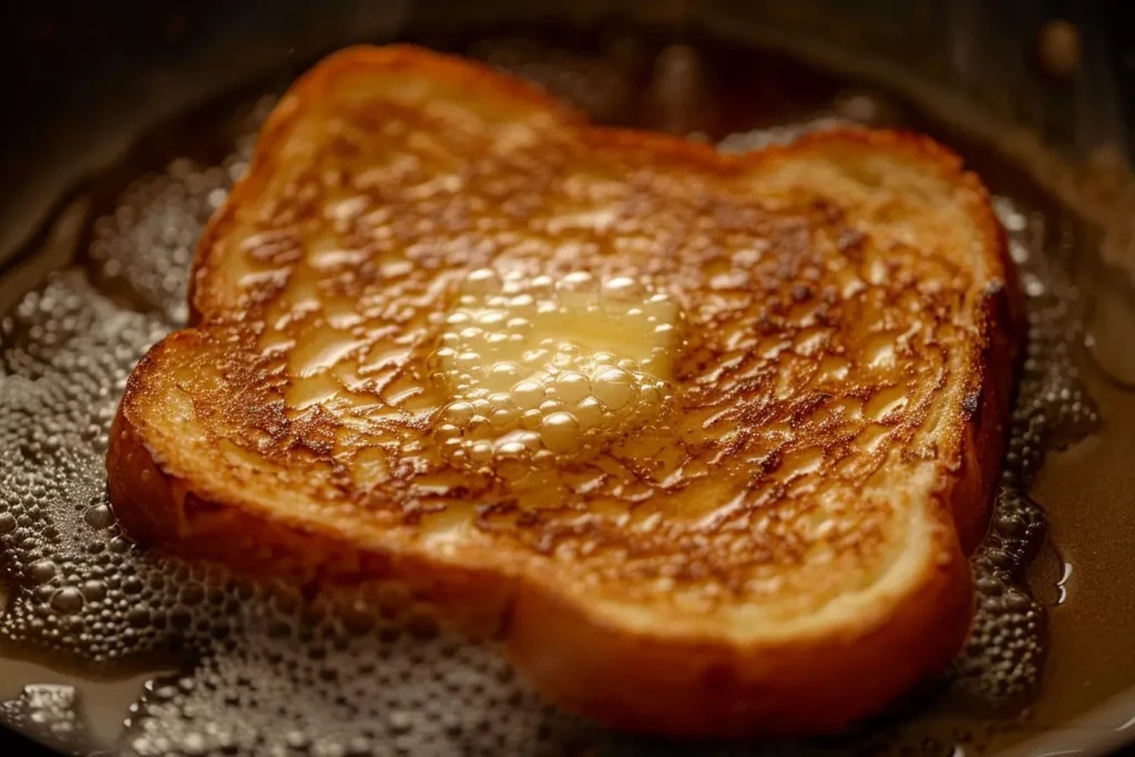
[[[508,649],[558,705],[616,730],[724,738],[835,733],[942,670],[968,630],[972,604],[968,581],[945,565],[885,623],[770,648],[675,642],[598,625],[577,603],[521,586]],[[930,616],[939,622],[927,634]]]

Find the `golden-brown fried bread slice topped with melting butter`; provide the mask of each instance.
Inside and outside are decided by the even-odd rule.
[[[140,362],[119,520],[405,580],[617,729],[816,733],[962,645],[1019,304],[934,142],[745,155],[410,47],[277,106]]]

